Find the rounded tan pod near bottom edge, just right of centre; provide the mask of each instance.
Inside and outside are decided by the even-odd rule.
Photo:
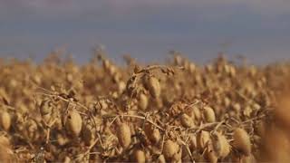
[[[179,145],[176,142],[168,139],[164,143],[163,147],[163,155],[167,161],[172,161],[175,155],[178,155],[179,152]]]

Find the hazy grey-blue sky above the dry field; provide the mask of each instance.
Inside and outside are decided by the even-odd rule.
[[[0,0],[0,55],[41,60],[65,47],[86,62],[95,44],[120,60],[178,50],[208,62],[224,50],[255,63],[290,58],[288,0]]]

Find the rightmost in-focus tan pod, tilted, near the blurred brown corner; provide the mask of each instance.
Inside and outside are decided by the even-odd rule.
[[[251,154],[251,141],[245,129],[237,128],[234,130],[234,147],[242,154],[249,156]]]

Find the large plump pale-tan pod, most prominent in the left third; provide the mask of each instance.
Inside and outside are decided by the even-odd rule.
[[[82,117],[76,110],[71,110],[65,123],[65,128],[73,137],[78,137],[82,130]]]

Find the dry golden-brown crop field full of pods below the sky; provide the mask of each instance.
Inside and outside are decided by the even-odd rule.
[[[4,162],[289,162],[290,65],[0,62]],[[276,98],[284,97],[284,98]],[[282,100],[281,100],[282,99]]]

